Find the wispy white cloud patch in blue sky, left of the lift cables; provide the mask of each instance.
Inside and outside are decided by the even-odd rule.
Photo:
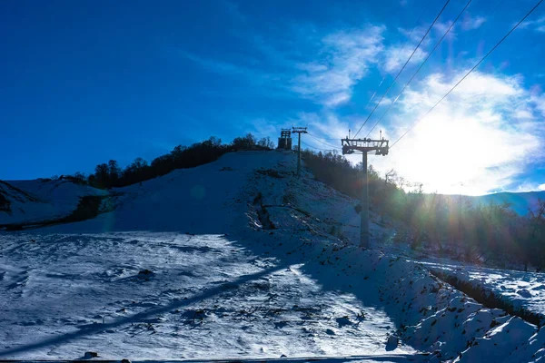
[[[383,31],[382,26],[370,25],[325,36],[319,51],[322,60],[298,64],[303,74],[293,79],[292,90],[327,107],[346,103],[354,84],[377,62]]]

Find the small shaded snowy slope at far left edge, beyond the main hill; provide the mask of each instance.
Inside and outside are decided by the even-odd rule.
[[[75,211],[82,197],[105,194],[68,180],[0,181],[0,225],[53,221]]]

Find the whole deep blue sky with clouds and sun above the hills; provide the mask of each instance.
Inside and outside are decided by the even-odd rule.
[[[359,136],[392,141],[535,5],[451,0]],[[151,160],[209,136],[357,130],[444,2],[5,1],[0,179]],[[372,156],[427,191],[545,189],[545,5],[392,148]],[[375,93],[372,99],[372,94]],[[370,103],[370,99],[372,102]],[[332,146],[330,146],[332,145]],[[353,159],[357,162],[357,159]]]

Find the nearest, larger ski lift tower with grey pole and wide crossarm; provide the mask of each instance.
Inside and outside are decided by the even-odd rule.
[[[388,140],[372,140],[372,139],[341,139],[342,154],[351,154],[354,152],[362,152],[362,227],[360,231],[360,245],[362,248],[369,248],[369,183],[367,181],[367,153],[375,152],[375,155],[388,155]]]

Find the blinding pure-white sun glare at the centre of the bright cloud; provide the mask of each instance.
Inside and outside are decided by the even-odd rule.
[[[495,183],[512,176],[507,164],[523,152],[498,127],[500,116],[437,111],[392,150],[394,168],[408,181],[423,183],[425,191],[478,195],[500,188]]]

